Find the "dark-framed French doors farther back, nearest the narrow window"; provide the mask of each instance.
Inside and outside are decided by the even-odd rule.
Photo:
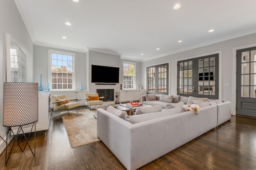
[[[147,94],[168,95],[168,64],[147,67]]]

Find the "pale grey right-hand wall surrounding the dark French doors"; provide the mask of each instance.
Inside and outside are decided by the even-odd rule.
[[[182,60],[185,58],[190,58],[190,57],[199,57],[204,54],[209,54],[209,53],[220,53],[220,81],[222,82],[221,84],[221,96],[219,98],[222,98],[224,100],[232,101],[233,104],[233,109],[235,108],[236,101],[234,99],[235,95],[235,89],[236,89],[236,84],[234,82],[236,79],[234,70],[233,70],[233,64],[235,57],[233,54],[234,49],[241,49],[242,46],[248,46],[256,43],[256,34],[251,34],[251,35],[246,35],[243,37],[231,39],[228,41],[223,41],[220,43],[212,44],[212,45],[207,45],[205,47],[200,47],[197,49],[192,49],[189,51],[184,51],[181,53],[173,54],[173,55],[168,55],[165,57],[161,57],[158,59],[153,59],[150,61],[145,61],[142,63],[141,67],[141,72],[142,72],[142,77],[146,77],[146,66],[152,65],[152,64],[157,64],[157,63],[164,63],[164,62],[170,62],[170,94],[177,94],[176,88],[177,88],[177,75],[176,75],[176,70],[177,70],[177,61]],[[239,48],[241,47],[241,48]],[[235,66],[235,65],[234,65]],[[224,87],[224,83],[229,83],[229,87]],[[146,87],[146,80],[142,81],[142,84],[144,87]]]

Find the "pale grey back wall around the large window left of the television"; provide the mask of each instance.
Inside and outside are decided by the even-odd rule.
[[[76,71],[76,85],[74,90],[79,90],[80,83],[83,84],[84,90],[86,90],[86,53],[80,53],[75,51],[68,51],[62,49],[55,49],[50,47],[43,47],[34,45],[34,82],[40,84],[40,74],[42,74],[42,86],[44,87],[48,83],[48,49],[55,51],[64,51],[69,53],[75,53],[75,71]]]

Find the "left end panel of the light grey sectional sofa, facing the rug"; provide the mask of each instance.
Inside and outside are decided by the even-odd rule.
[[[131,129],[134,125],[106,110],[97,109],[97,136],[130,169]]]

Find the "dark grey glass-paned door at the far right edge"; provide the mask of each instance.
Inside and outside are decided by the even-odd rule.
[[[256,117],[256,47],[236,51],[236,114]]]

